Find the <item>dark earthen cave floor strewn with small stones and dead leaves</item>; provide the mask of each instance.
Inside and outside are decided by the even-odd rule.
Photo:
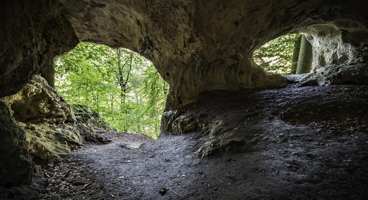
[[[368,86],[203,99],[181,113],[222,120],[244,145],[202,158],[195,154],[207,139],[202,131],[161,134],[137,149],[86,144],[44,168],[42,199],[367,199]]]

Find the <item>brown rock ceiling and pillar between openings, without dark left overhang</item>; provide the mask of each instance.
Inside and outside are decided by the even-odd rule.
[[[195,102],[205,91],[283,86],[283,77],[265,73],[252,61],[253,51],[271,39],[315,24],[335,21],[339,28],[345,26],[344,20],[351,20],[367,26],[363,9],[367,3],[354,2],[61,0],[81,41],[129,48],[153,62],[171,86],[167,109]],[[342,40],[334,47],[341,46],[341,54],[354,54],[348,58],[354,62],[360,59],[359,53],[352,53],[354,48],[345,50],[345,43],[351,42]],[[327,54],[319,51],[320,57]],[[326,64],[332,63],[328,55],[325,58]],[[337,55],[337,59],[343,62],[344,58]]]

